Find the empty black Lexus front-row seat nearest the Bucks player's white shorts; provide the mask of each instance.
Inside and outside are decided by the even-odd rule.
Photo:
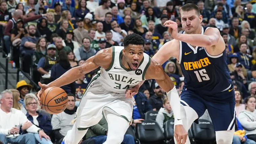
[[[155,120],[144,120],[142,123],[137,123],[136,138],[141,144],[162,144],[165,139],[159,124]]]

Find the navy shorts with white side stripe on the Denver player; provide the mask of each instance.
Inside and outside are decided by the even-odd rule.
[[[216,94],[217,97],[226,97],[231,95],[235,97],[234,91],[224,91]],[[212,119],[215,131],[228,131],[233,127],[237,129],[235,102],[232,103],[213,103],[203,99],[203,95],[199,96],[190,90],[183,88],[181,93],[181,104],[193,108],[198,117],[201,117],[207,109]],[[207,97],[207,96],[205,96]],[[209,97],[208,97],[209,98]],[[198,123],[198,119],[195,120]]]

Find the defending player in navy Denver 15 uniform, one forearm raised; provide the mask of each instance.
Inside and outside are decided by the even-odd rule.
[[[198,122],[207,109],[217,144],[231,144],[236,127],[235,96],[226,63],[225,42],[217,28],[201,27],[202,19],[195,4],[185,4],[181,8],[185,32],[179,34],[177,23],[166,21],[164,25],[174,39],[165,43],[153,59],[162,65],[175,57],[180,63],[185,77],[180,97],[185,130],[188,131],[194,121]],[[137,89],[127,92],[126,95],[133,95]]]

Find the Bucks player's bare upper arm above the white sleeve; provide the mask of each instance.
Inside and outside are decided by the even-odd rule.
[[[174,84],[170,77],[164,72],[163,67],[157,63],[154,59],[151,59],[151,63],[145,74],[146,79],[155,79],[158,85],[165,91],[169,92]]]

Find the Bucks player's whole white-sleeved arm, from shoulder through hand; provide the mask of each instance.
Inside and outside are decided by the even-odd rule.
[[[180,97],[175,85],[171,81],[170,77],[164,72],[162,66],[153,59],[151,59],[151,64],[147,69],[145,79],[156,79],[158,85],[166,92],[174,114],[174,137],[178,144],[184,144],[187,140],[188,133],[183,128]]]

